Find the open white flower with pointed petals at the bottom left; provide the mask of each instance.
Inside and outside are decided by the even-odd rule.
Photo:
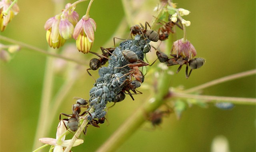
[[[54,138],[40,138],[39,141],[44,143],[44,144],[49,144],[49,145],[54,145],[54,152],[63,152],[63,147],[67,147],[71,140],[65,140],[65,131],[66,127],[64,126],[65,120],[60,121],[58,124],[57,132],[56,132],[56,139]],[[65,121],[67,122],[67,121]],[[76,142],[74,143],[74,146],[78,146],[82,144],[84,140],[82,139],[77,139]]]

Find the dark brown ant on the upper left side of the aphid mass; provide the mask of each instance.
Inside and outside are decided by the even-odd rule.
[[[102,55],[98,54],[98,53],[95,53],[95,52],[91,52],[89,51],[90,53],[94,54],[94,55],[97,55],[98,59],[96,58],[92,58],[90,60],[90,68],[89,69],[86,69],[86,71],[88,72],[88,74],[92,77],[91,73],[88,71],[88,70],[97,70],[98,68],[100,68],[102,65],[105,65],[106,62],[108,61],[108,57],[110,55],[112,55],[113,51],[115,50],[115,48],[104,48],[104,47],[100,47],[101,51],[102,51]]]

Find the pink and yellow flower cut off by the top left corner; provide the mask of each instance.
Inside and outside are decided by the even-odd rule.
[[[8,23],[12,21],[15,15],[18,14],[20,8],[16,3],[10,0],[0,1],[0,30],[3,32]]]

